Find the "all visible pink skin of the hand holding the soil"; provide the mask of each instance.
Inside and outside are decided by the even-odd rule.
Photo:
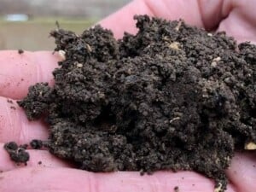
[[[226,31],[237,41],[256,43],[256,1],[253,0],[137,0],[110,15],[101,24],[111,28],[116,38],[124,31],[136,32],[132,15],[148,14],[165,19],[183,18],[208,31]],[[138,172],[92,173],[74,169],[46,150],[29,149],[28,165],[16,166],[3,150],[3,143],[29,143],[46,139],[47,125],[30,122],[15,103],[26,96],[31,84],[48,81],[60,57],[51,52],[0,51],[0,191],[5,192],[212,192],[211,179],[195,172],[155,172],[141,177]],[[14,103],[7,102],[7,99]],[[16,109],[10,108],[15,106]],[[42,165],[38,165],[42,161]],[[228,192],[253,192],[256,189],[256,154],[236,154],[227,175]]]

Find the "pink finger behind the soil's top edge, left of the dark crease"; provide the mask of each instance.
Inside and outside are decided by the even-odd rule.
[[[212,3],[213,2],[213,3]],[[183,19],[193,26],[206,26],[207,30],[218,26],[222,19],[220,0],[216,1],[187,1],[187,0],[134,0],[127,4],[123,9],[119,9],[113,15],[102,20],[100,24],[113,30],[116,38],[121,38],[124,32],[137,32],[134,15],[150,15],[164,18],[167,20]],[[207,12],[202,10],[207,9]],[[208,12],[210,14],[208,14]],[[204,20],[205,14],[207,19]]]

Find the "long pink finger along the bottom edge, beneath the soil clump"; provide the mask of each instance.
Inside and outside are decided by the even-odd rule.
[[[155,172],[142,177],[139,172],[103,174],[32,167],[3,172],[0,177],[0,190],[9,192],[171,192],[176,186],[182,192],[212,192],[214,187],[212,181],[193,172]],[[229,186],[227,192],[234,189]]]

